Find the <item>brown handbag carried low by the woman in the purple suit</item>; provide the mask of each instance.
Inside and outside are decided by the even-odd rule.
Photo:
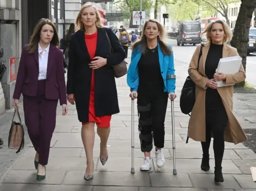
[[[14,121],[16,112],[18,115],[19,123]],[[21,119],[17,108],[15,108],[12,125],[9,131],[8,147],[11,149],[18,149],[16,153],[18,153],[20,149],[24,148],[24,128],[21,124]]]

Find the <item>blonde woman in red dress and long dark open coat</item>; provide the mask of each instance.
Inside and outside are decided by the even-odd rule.
[[[125,59],[125,51],[114,32],[103,28],[99,12],[91,2],[80,9],[76,25],[79,30],[72,35],[69,45],[67,94],[82,122],[81,136],[87,158],[84,179],[90,180],[94,169],[95,123],[101,140],[100,162],[104,165],[108,160],[111,115],[119,112],[112,66]]]

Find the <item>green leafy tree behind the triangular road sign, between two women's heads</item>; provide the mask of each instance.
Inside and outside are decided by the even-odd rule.
[[[122,13],[128,13],[130,15],[129,27],[132,28],[132,11],[140,10],[140,0],[116,0],[114,1],[114,5],[117,10],[119,9]],[[142,11],[146,11],[146,15],[148,15],[152,5],[152,0],[142,0]]]

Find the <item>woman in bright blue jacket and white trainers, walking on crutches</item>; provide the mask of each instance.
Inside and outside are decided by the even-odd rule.
[[[153,138],[156,165],[159,168],[165,165],[161,149],[165,142],[165,113],[168,97],[176,98],[173,52],[163,42],[163,36],[164,27],[157,20],[146,21],[140,40],[132,47],[127,74],[130,97],[137,98],[141,151],[145,155],[141,171],[152,167]]]

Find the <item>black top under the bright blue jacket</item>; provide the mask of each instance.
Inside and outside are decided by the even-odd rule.
[[[141,56],[138,63],[139,87],[142,93],[163,92],[164,80],[161,74],[158,47],[146,49],[146,54]]]

